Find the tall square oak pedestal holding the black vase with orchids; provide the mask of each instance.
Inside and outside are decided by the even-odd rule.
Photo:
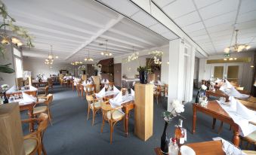
[[[153,135],[153,84],[135,84],[134,133],[147,141]]]

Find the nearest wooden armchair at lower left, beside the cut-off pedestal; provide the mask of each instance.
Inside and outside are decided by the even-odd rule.
[[[43,152],[46,155],[46,150],[43,144],[43,137],[45,130],[48,127],[48,114],[40,114],[38,118],[29,118],[26,120],[21,120],[22,123],[38,123],[38,129],[35,132],[31,132],[24,136],[24,150],[26,154],[41,155]]]

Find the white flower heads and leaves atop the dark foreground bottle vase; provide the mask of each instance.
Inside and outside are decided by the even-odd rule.
[[[174,117],[181,116],[180,113],[184,112],[184,105],[177,99],[171,102],[172,110],[162,112],[162,117],[166,122],[170,122]]]

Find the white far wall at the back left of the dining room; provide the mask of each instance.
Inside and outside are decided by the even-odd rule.
[[[74,74],[74,68],[74,65],[57,62],[54,62],[52,68],[49,68],[48,65],[45,65],[44,59],[23,57],[23,70],[31,71],[32,78],[36,78],[37,74],[45,74],[46,77],[49,77],[50,74],[59,74],[60,69],[66,69],[69,73]]]

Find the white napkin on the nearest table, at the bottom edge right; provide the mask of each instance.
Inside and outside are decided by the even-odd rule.
[[[229,141],[226,141],[224,138],[216,137],[212,138],[214,141],[221,141],[222,142],[222,150],[226,154],[239,154],[239,155],[246,155],[246,153],[243,153],[242,150],[240,150],[238,147],[230,143]]]

